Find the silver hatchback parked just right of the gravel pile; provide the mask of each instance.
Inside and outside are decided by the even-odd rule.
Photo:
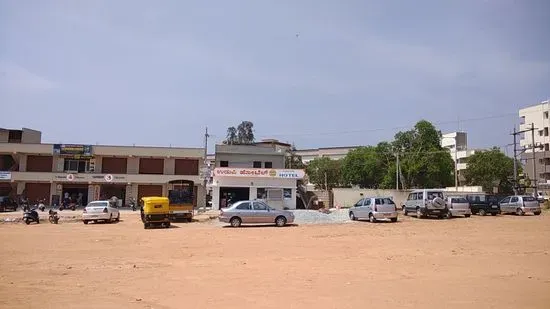
[[[373,223],[382,219],[397,222],[397,206],[388,197],[367,197],[360,199],[349,209],[349,218],[351,220],[368,219]]]

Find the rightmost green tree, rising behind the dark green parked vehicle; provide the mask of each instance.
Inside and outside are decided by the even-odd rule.
[[[520,164],[518,169],[518,173],[521,173]],[[492,192],[493,188],[498,187],[498,192],[504,194],[513,192],[513,175],[514,159],[496,147],[474,153],[468,158],[468,167],[464,171],[469,185],[482,186],[486,192]]]

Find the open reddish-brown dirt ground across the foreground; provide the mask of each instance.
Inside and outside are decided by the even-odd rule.
[[[0,224],[0,308],[550,308],[550,213],[285,228]]]

